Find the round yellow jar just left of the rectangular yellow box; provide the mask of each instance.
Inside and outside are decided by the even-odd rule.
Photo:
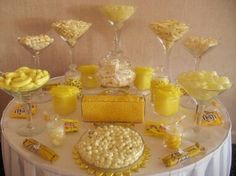
[[[59,115],[68,115],[76,110],[77,95],[80,90],[74,86],[59,85],[50,91],[53,107]]]

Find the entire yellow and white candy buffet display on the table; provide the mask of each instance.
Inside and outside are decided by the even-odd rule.
[[[161,146],[163,153],[171,151],[163,158],[160,153],[152,156],[150,162],[155,161],[155,167],[158,167],[158,160],[163,162],[163,166],[171,167],[205,154],[204,147],[198,143],[193,145],[193,141],[185,137],[184,134],[189,133],[194,140],[199,139],[182,128],[186,125],[182,122],[188,119],[185,122],[190,122],[189,126],[196,135],[199,126],[222,128],[225,123],[220,106],[209,104],[220,93],[230,89],[232,83],[216,71],[199,70],[202,55],[218,41],[203,37],[187,38],[184,46],[196,58],[195,71],[181,73],[175,84],[169,54],[174,43],[188,32],[189,26],[177,20],[151,23],[150,28],[165,51],[165,66],[132,67],[121,49],[120,35],[124,22],[135,10],[129,5],[100,7],[114,28],[115,37],[113,49],[99,63],[76,65],[74,61],[74,47],[92,24],[81,20],[59,20],[52,24],[52,28],[70,47],[69,71],[63,77],[52,79],[46,85],[50,79],[46,70],[24,66],[1,73],[0,88],[23,102],[11,111],[10,117],[28,120],[26,125],[17,129],[17,133],[35,136],[47,127],[46,137],[52,149],[33,138],[24,140],[25,149],[47,161],[56,161],[60,158],[54,147],[60,151],[66,145],[67,137],[76,137],[78,142],[75,141],[74,147],[70,144],[71,159],[88,174],[96,176],[130,176],[145,167],[152,151],[148,149],[150,138],[157,142],[158,147]],[[54,39],[42,34],[20,37],[18,41],[33,54],[35,66],[39,67],[39,52]],[[43,115],[40,114],[43,106],[32,104],[32,96],[42,87],[52,97],[48,104],[43,105],[47,106]],[[195,114],[192,109],[181,107],[183,92],[196,100]],[[209,105],[207,109],[206,105]],[[50,114],[52,112],[54,115]],[[33,124],[32,115],[44,118],[44,123]]]

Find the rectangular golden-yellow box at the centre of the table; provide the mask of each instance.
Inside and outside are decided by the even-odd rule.
[[[133,122],[144,119],[145,101],[138,95],[84,95],[82,117],[88,122]]]

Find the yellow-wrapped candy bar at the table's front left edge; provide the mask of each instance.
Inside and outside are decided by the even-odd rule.
[[[47,161],[56,161],[59,156],[47,146],[39,143],[33,138],[27,138],[23,141],[23,147]]]

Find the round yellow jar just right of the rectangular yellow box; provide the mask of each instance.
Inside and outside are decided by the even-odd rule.
[[[180,88],[167,84],[154,89],[155,111],[163,116],[171,116],[178,112],[180,101]]]

